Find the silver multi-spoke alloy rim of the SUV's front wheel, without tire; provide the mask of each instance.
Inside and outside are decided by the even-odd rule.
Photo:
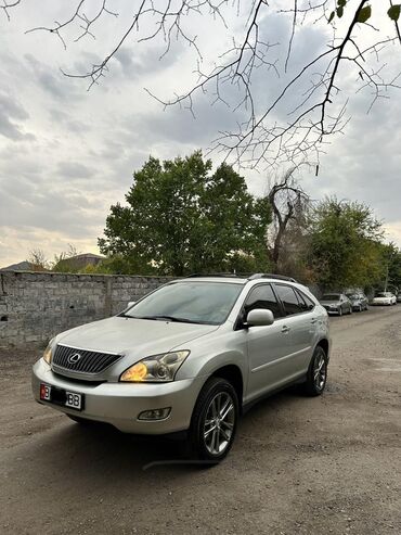
[[[211,399],[204,424],[204,441],[210,455],[219,456],[230,445],[235,424],[234,402],[228,392]]]

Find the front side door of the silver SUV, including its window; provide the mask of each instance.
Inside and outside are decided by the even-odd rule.
[[[283,383],[283,359],[287,356],[286,331],[283,330],[283,310],[271,284],[254,286],[244,302],[243,315],[255,308],[269,309],[274,323],[267,327],[250,327],[247,330],[248,384],[247,400],[259,397]]]

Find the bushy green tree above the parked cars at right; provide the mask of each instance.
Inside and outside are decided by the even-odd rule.
[[[310,263],[324,289],[371,286],[383,279],[381,222],[361,203],[329,198],[311,217]]]

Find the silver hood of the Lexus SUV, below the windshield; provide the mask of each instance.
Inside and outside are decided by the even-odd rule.
[[[143,358],[186,344],[216,331],[219,326],[113,317],[76,327],[56,336],[57,344],[102,353]]]

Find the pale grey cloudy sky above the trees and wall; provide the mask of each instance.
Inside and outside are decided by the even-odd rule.
[[[173,39],[161,60],[163,39],[138,42],[154,28],[152,18],[113,58],[99,86],[88,91],[88,80],[65,77],[61,69],[81,73],[109,53],[132,20],[131,3],[109,2],[119,16],[100,20],[94,27],[96,39],[87,36],[75,42],[79,28],[68,27],[66,50],[55,35],[26,30],[68,18],[77,1],[43,0],[38,10],[34,0],[23,0],[10,10],[10,21],[0,12],[0,267],[24,260],[37,249],[49,259],[68,244],[79,252],[98,253],[96,239],[109,206],[124,202],[132,173],[151,154],[164,160],[195,149],[206,152],[220,130],[233,129],[246,117],[246,111],[232,105],[237,98],[232,88],[224,93],[231,107],[222,102],[211,105],[211,89],[209,94],[195,95],[195,117],[185,106],[165,110],[150,97],[144,88],[160,99],[191,88],[197,61],[196,50],[183,39]],[[95,4],[92,1],[88,10]],[[203,69],[230,48],[232,36],[244,34],[245,23],[241,9],[227,12],[228,27],[210,16],[193,15],[184,22],[189,35],[198,37]],[[391,31],[383,16],[376,24],[380,35]],[[290,18],[270,10],[260,28],[263,40],[272,44],[272,61],[282,69]],[[370,31],[364,29],[358,42],[368,43]],[[326,42],[326,23],[305,24],[295,34],[287,76],[324,50]],[[401,71],[400,52],[398,43],[380,56],[390,75]],[[274,69],[255,74],[258,113],[286,79]],[[311,155],[312,165],[300,166],[297,178],[312,199],[335,194],[368,204],[384,220],[387,239],[401,246],[401,92],[389,91],[389,98],[380,99],[367,113],[372,94],[355,92],[360,87],[355,79],[358,71],[352,66],[339,73],[341,92],[334,105],[348,100],[350,122],[324,147],[319,176],[314,176],[315,156]],[[272,120],[285,119],[301,89],[288,95]],[[223,154],[211,157],[218,165]],[[262,195],[288,167],[285,162],[275,168],[261,164],[241,173],[249,190]]]

